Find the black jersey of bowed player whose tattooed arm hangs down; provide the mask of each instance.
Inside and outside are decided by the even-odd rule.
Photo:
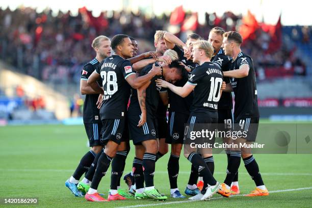
[[[147,74],[152,69],[152,66],[153,66],[152,64],[148,64],[147,66],[145,66],[141,70],[140,76],[144,76],[145,74]],[[146,98],[145,98],[146,113],[154,117],[157,116],[158,105],[160,102],[159,93],[165,92],[167,90],[166,88],[161,88],[156,85],[155,80],[157,79],[162,79],[162,76],[157,75],[154,76],[152,80],[150,80],[151,83],[146,88]],[[128,113],[129,116],[141,115],[141,109],[138,100],[138,91],[135,89],[133,89]]]

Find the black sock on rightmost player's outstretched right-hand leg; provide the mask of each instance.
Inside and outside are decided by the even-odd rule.
[[[248,158],[243,159],[243,161],[244,161],[247,172],[251,176],[251,179],[254,180],[254,183],[256,184],[256,186],[263,186],[264,183],[262,180],[262,176],[259,172],[259,166],[257,162],[255,161],[255,159],[253,158],[253,155],[251,155]]]

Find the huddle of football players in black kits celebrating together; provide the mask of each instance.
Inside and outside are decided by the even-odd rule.
[[[86,95],[83,120],[91,149],[65,186],[88,201],[166,200],[167,196],[155,188],[153,178],[155,162],[171,144],[171,197],[185,198],[177,187],[183,147],[184,156],[191,162],[185,189],[185,194],[192,196],[189,199],[206,200],[215,193],[225,197],[239,194],[241,158],[256,185],[246,196],[267,196],[269,192],[250,148],[233,145],[225,149],[227,170],[220,184],[213,176],[212,148],[194,148],[187,139],[199,124],[222,124],[218,125],[223,126],[220,130],[247,133],[247,137],[235,140],[222,138],[224,143],[255,141],[259,122],[255,71],[241,44],[238,32],[225,32],[219,27],[210,31],[208,40],[193,33],[186,43],[169,32],[156,31],[155,51],[138,55],[138,43],[132,37],[96,37],[91,45],[96,57],[84,65],[80,82],[81,93]],[[130,140],[135,146],[135,158],[133,170],[124,176],[129,190],[124,190],[120,180]],[[110,165],[111,186],[105,199],[97,189]]]

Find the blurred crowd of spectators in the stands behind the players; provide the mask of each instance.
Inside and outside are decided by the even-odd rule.
[[[186,14],[186,17],[191,14]],[[14,11],[0,8],[0,58],[22,72],[43,81],[55,83],[78,83],[82,65],[94,57],[91,41],[98,35],[112,37],[123,33],[146,40],[153,49],[155,30],[167,30],[170,16],[153,16],[132,12],[102,12],[93,17],[85,8],[77,16],[70,12],[53,15],[51,10],[41,13],[32,8]],[[226,12],[222,17],[215,13],[206,14],[205,23],[198,24],[195,33],[205,39],[213,27],[225,30],[239,30],[242,16]],[[179,32],[179,37],[185,37]],[[302,27],[303,42],[310,41],[310,27]],[[246,41],[243,50],[253,57],[256,66],[283,66],[286,63],[304,63],[293,56],[294,48],[284,45],[274,53],[268,53],[270,37],[262,30],[256,31],[256,38]],[[140,47],[140,45],[139,45]],[[144,52],[142,51],[140,52]]]

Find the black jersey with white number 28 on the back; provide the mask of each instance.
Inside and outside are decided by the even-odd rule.
[[[135,74],[131,63],[118,55],[112,55],[99,64],[96,72],[102,78],[104,90],[100,109],[101,119],[124,117],[131,88],[126,79],[129,75]]]

